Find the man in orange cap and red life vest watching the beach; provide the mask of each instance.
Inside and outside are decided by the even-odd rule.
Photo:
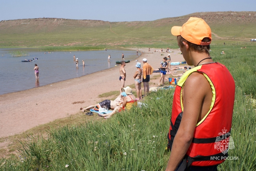
[[[212,60],[211,29],[203,19],[191,17],[171,32],[195,68],[183,74],[173,95],[166,171],[215,171],[234,144],[230,130],[235,82],[223,64]]]

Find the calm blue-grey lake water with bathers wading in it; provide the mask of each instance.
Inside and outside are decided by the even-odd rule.
[[[29,56],[12,57],[13,51],[25,51]],[[127,49],[108,49],[99,51],[52,52],[44,54],[38,49],[0,48],[0,94],[27,90],[71,78],[81,77],[105,70],[122,59],[134,60],[136,51]],[[78,68],[73,56],[78,58]],[[108,62],[108,55],[111,55]],[[140,54],[139,54],[140,55]],[[24,59],[38,58],[34,62],[21,62]],[[83,67],[84,60],[85,66]],[[36,82],[34,67],[39,67],[39,82]]]

